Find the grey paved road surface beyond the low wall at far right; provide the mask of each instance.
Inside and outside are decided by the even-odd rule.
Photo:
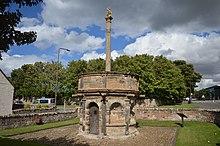
[[[220,100],[215,100],[214,102],[212,100],[209,100],[209,101],[193,101],[192,103],[195,104],[195,105],[198,105],[201,108],[220,109]]]

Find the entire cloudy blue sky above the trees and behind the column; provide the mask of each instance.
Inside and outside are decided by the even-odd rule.
[[[36,61],[105,58],[106,8],[112,9],[112,58],[147,53],[183,59],[203,75],[199,88],[220,85],[219,0],[44,0],[22,9],[21,31],[36,31],[32,45],[3,53],[0,68]]]

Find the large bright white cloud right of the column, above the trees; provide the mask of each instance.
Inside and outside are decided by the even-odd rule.
[[[149,33],[137,38],[124,48],[126,55],[135,54],[163,55],[171,60],[186,60],[194,64],[195,70],[203,75],[206,82],[220,83],[220,35],[210,33],[199,37],[185,33]],[[211,82],[212,81],[212,82]]]

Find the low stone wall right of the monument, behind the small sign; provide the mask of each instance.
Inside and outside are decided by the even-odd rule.
[[[220,109],[137,108],[136,118],[145,120],[180,121],[181,118],[177,113],[186,115],[186,121],[212,122],[220,125]]]

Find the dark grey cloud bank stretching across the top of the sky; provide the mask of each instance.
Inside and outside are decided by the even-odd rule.
[[[45,0],[41,16],[46,24],[86,29],[105,28],[106,8],[113,12],[116,35],[137,37],[147,31],[201,32],[219,30],[220,1],[201,0]]]

